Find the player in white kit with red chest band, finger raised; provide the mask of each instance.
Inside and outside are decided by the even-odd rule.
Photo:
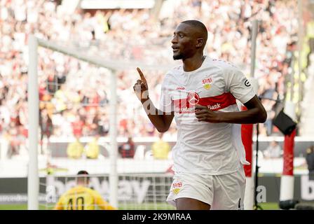
[[[166,73],[160,109],[149,99],[142,71],[135,94],[158,132],[177,123],[172,148],[174,180],[167,201],[183,209],[243,209],[245,151],[240,125],[264,123],[266,111],[252,85],[236,66],[203,55],[207,29],[202,22],[181,22],[172,38],[173,59]],[[246,107],[239,111],[235,99]]]

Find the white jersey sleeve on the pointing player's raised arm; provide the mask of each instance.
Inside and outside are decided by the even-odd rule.
[[[174,111],[170,81],[168,76],[165,76],[163,83],[161,84],[161,98],[159,99],[159,109],[165,113],[171,113]]]

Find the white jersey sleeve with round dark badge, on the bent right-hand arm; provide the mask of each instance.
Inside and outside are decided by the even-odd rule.
[[[255,96],[252,84],[240,69],[235,66],[224,69],[224,77],[226,80],[226,92],[233,94],[233,97],[241,103],[245,104]]]

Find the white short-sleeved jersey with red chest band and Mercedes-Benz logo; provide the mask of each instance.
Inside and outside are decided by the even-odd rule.
[[[177,66],[166,73],[161,87],[160,109],[175,111],[178,137],[172,148],[175,172],[229,174],[245,160],[240,125],[198,122],[195,104],[212,111],[239,111],[235,99],[245,104],[254,91],[233,64],[206,57],[195,71]]]

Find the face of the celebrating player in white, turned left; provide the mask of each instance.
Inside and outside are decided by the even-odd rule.
[[[180,23],[172,37],[173,59],[186,59],[196,53],[193,27]]]

